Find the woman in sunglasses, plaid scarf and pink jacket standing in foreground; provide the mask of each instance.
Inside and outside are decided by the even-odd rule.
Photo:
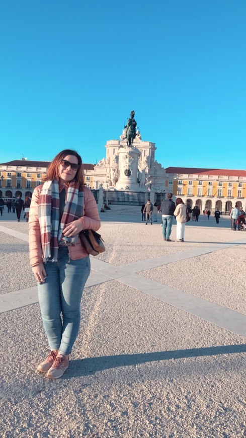
[[[49,379],[58,379],[67,369],[78,334],[81,296],[91,267],[78,234],[99,228],[81,157],[64,150],[51,162],[45,183],[35,188],[29,216],[30,262],[50,348],[38,371]]]

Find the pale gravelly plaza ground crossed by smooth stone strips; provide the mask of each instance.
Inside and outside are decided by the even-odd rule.
[[[1,435],[246,436],[246,232],[200,215],[185,243],[175,223],[164,242],[160,215],[101,216],[107,249],[57,381],[36,372],[48,348],[28,224],[0,217]]]

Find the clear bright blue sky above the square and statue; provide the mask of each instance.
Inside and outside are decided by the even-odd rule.
[[[245,169],[245,0],[1,0],[0,162],[105,157],[132,109],[162,166]]]

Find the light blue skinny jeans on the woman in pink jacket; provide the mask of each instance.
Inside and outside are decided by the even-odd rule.
[[[90,274],[90,257],[69,260],[67,247],[60,247],[58,261],[47,262],[44,267],[47,278],[45,283],[38,283],[38,300],[49,347],[70,354],[79,330],[80,302]]]

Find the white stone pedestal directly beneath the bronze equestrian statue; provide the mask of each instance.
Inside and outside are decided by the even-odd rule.
[[[119,170],[118,182],[116,183],[117,190],[132,190],[138,191],[139,184],[137,182],[138,158],[141,152],[137,148],[119,148]]]

